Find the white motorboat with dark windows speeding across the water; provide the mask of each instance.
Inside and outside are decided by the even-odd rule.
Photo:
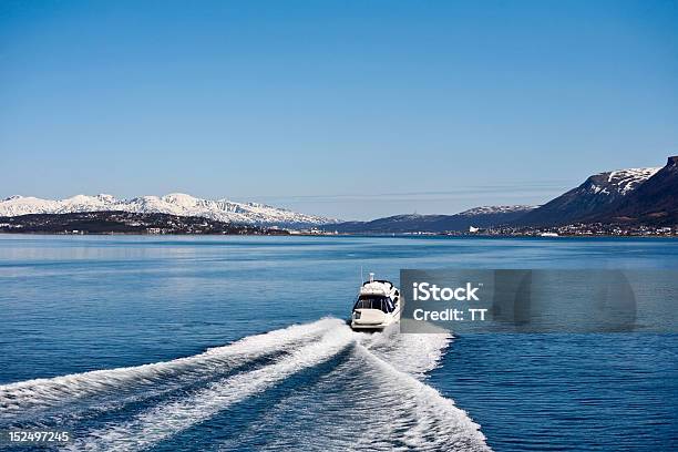
[[[400,321],[402,301],[400,291],[391,281],[374,279],[362,284],[358,300],[351,312],[351,328],[355,330],[381,330]]]

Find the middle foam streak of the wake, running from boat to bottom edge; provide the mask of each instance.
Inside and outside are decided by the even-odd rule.
[[[340,320],[336,320],[335,326],[318,342],[294,350],[273,364],[214,382],[188,397],[161,403],[120,425],[93,431],[70,449],[141,450],[177,434],[294,373],[327,361],[355,341],[355,335]]]

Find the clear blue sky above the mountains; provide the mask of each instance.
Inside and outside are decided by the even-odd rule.
[[[676,1],[0,2],[0,197],[367,219],[676,154]]]

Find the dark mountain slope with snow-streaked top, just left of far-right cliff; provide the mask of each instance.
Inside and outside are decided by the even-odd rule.
[[[524,225],[554,225],[582,222],[605,212],[641,186],[660,168],[629,168],[594,174],[582,185],[528,212]]]

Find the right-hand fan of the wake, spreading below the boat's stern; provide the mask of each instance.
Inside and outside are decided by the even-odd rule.
[[[357,335],[346,361],[271,403],[219,450],[487,451],[480,427],[421,381],[450,340],[389,330]]]

